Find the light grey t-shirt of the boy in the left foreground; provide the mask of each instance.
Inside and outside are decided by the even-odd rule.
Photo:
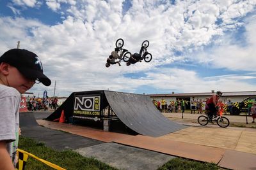
[[[0,84],[0,141],[6,141],[6,148],[15,165],[19,142],[20,93]]]

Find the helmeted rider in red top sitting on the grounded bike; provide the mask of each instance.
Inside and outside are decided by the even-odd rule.
[[[221,91],[217,91],[216,94],[212,94],[211,98],[207,100],[206,104],[209,108],[208,117],[212,120],[212,116],[218,113],[218,100],[222,96]]]

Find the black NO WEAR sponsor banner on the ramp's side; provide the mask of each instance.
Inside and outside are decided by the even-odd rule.
[[[73,117],[85,118],[97,121],[100,116],[100,96],[83,96],[74,97]],[[95,118],[95,119],[94,119]]]

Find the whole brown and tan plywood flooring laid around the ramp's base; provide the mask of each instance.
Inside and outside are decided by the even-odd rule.
[[[189,126],[159,138],[104,132],[70,124],[38,120],[38,124],[86,138],[115,142],[204,162],[229,169],[256,169],[256,129]]]

